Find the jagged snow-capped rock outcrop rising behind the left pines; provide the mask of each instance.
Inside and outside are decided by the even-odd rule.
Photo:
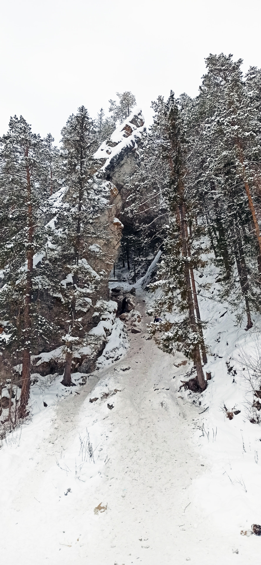
[[[103,142],[97,153],[96,159],[101,160],[102,167],[95,174],[97,186],[102,185],[106,198],[99,210],[98,218],[93,224],[93,229],[86,234],[86,254],[84,259],[95,272],[94,288],[92,294],[83,295],[76,304],[77,315],[81,317],[81,324],[85,336],[84,346],[73,354],[72,371],[92,372],[95,368],[96,360],[102,354],[106,346],[106,340],[111,329],[103,327],[100,333],[92,334],[93,329],[98,328],[102,323],[106,306],[103,308],[97,305],[101,301],[110,301],[108,290],[108,280],[114,263],[118,259],[121,233],[123,224],[118,219],[123,207],[123,190],[127,177],[134,172],[140,155],[138,144],[140,144],[142,134],[145,131],[144,119],[141,110],[136,109],[119,128],[112,133],[110,140]],[[98,164],[98,161],[97,161]],[[50,197],[51,206],[48,208],[48,215],[42,218],[42,225],[54,222],[59,216],[59,209],[66,202],[66,188],[60,189]],[[99,228],[99,229],[97,229]],[[97,237],[97,233],[99,236]],[[41,265],[42,262],[42,265]],[[44,269],[44,258],[40,260],[38,267]],[[36,266],[37,268],[37,266]],[[121,299],[121,304],[124,296]],[[121,312],[120,300],[116,301],[118,314]],[[54,297],[53,307],[49,312],[50,320],[56,321],[66,319],[66,308],[63,306],[59,297]],[[127,301],[127,311],[134,308],[131,295]],[[129,310],[128,310],[129,308]],[[116,310],[112,316],[111,323],[115,319]],[[106,324],[105,324],[106,325]],[[45,376],[48,374],[63,374],[64,353],[62,336],[64,328],[54,334],[49,348],[46,343],[39,338],[38,351],[34,351],[32,357],[32,373],[40,373]],[[19,370],[19,366],[18,366]],[[2,363],[3,380],[8,379],[10,370],[7,363]]]

